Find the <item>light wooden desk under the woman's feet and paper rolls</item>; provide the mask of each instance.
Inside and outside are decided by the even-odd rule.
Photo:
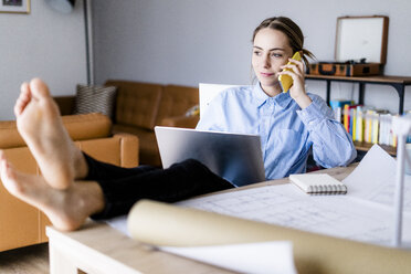
[[[320,170],[341,180],[356,165],[347,168]],[[288,183],[288,179],[273,180],[238,188],[256,188]],[[107,224],[88,221],[81,230],[61,232],[46,229],[50,241],[50,273],[233,273],[211,265],[160,252],[130,240]]]

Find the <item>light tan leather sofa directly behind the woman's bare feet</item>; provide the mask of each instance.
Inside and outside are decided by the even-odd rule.
[[[127,134],[112,136],[112,123],[106,116],[65,116],[63,123],[75,144],[96,159],[122,167],[138,165],[138,138]],[[40,172],[15,122],[0,122],[0,149],[17,169]],[[43,213],[11,196],[0,183],[0,251],[46,242],[44,228],[49,223]]]

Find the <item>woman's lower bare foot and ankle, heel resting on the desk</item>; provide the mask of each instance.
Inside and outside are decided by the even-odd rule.
[[[60,230],[78,229],[93,213],[104,208],[97,182],[70,183],[70,188],[52,188],[41,176],[15,170],[0,151],[0,176],[6,189],[17,198],[43,211]]]

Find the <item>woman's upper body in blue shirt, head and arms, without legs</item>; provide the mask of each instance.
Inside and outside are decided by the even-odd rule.
[[[197,128],[260,135],[267,179],[305,172],[312,147],[323,167],[349,164],[356,157],[351,138],[327,104],[306,93],[304,64],[291,59],[302,52],[307,64],[305,56],[313,56],[303,48],[298,25],[288,18],[268,18],[255,29],[252,41],[259,83],[219,94]],[[288,61],[292,64],[286,65]],[[293,77],[288,93],[282,93],[278,83],[283,74]]]

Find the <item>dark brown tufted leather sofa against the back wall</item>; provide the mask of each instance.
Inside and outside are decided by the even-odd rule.
[[[186,112],[199,104],[198,87],[109,80],[117,87],[113,133],[129,133],[139,139],[139,162],[161,166],[155,126],[194,128],[199,117]],[[63,114],[74,109],[74,96],[57,97]]]

